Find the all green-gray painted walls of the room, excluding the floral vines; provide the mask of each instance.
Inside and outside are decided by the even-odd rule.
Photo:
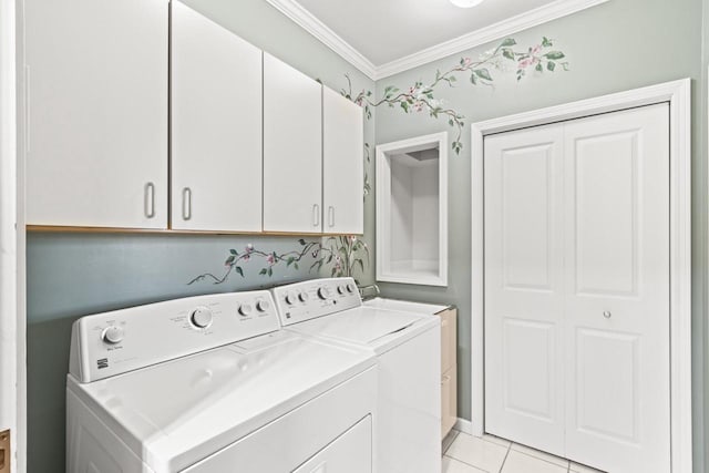
[[[265,0],[185,0],[187,4],[259,48],[339,90],[349,73],[353,89],[377,90],[389,84],[403,89],[418,80],[431,81],[436,69],[450,69],[461,56],[476,58],[491,45],[476,48],[374,84],[340,56],[295,25]],[[471,122],[584,97],[639,88],[680,78],[692,79],[692,374],[695,472],[705,469],[705,429],[709,434],[709,377],[703,376],[709,339],[706,322],[707,273],[707,7],[709,0],[610,0],[599,7],[514,34],[521,45],[553,38],[567,54],[571,71],[531,75],[516,83],[512,74],[495,73],[494,88],[474,88],[464,80],[436,91],[445,105],[466,116],[464,148],[449,160],[449,287],[432,288],[380,284],[386,296],[430,302],[455,304],[459,326],[459,408],[470,419],[471,320]],[[703,24],[703,28],[702,28]],[[465,78],[462,78],[465,79]],[[433,132],[449,131],[444,120],[403,114],[380,107],[368,121],[366,140],[387,143]],[[374,138],[376,137],[376,138]],[[373,175],[372,163],[368,165]],[[366,199],[367,240],[373,241],[374,198]],[[316,275],[307,270],[277,269],[274,278],[247,271],[232,275],[225,285],[204,280],[188,286],[194,276],[224,269],[229,248],[253,244],[265,249],[298,249],[297,238],[58,235],[31,234],[28,238],[28,377],[29,472],[54,473],[64,463],[64,377],[69,331],[79,316],[167,298],[265,287]],[[363,284],[373,280],[373,249]],[[707,391],[702,388],[707,387]],[[705,421],[705,419],[707,421]]]

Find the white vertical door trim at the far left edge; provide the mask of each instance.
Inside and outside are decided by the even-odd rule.
[[[18,432],[18,230],[17,230],[16,3],[0,2],[0,430]],[[17,441],[10,461],[17,471]]]

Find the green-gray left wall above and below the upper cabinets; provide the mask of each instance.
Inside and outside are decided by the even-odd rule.
[[[188,6],[242,38],[319,79],[336,90],[373,90],[374,84],[349,63],[306,33],[264,0],[189,0]],[[366,141],[373,143],[373,116],[366,123]],[[373,174],[366,163],[368,174]],[[373,198],[366,202],[366,230],[373,229]],[[319,239],[305,237],[308,241]],[[268,254],[299,254],[298,237],[227,237],[160,235],[29,234],[28,236],[28,472],[54,473],[64,465],[64,387],[69,367],[72,322],[80,316],[199,294],[271,287],[317,277],[314,258],[302,256],[299,269],[286,263],[273,266]],[[244,277],[232,271],[213,284],[203,274],[222,278],[235,249],[238,256],[253,245],[249,259],[240,259]],[[371,246],[371,245],[370,245]],[[266,255],[260,255],[260,253]],[[373,255],[372,255],[373,258]],[[271,269],[273,276],[260,275]],[[361,284],[373,280],[373,259]],[[328,271],[325,266],[322,271]]]

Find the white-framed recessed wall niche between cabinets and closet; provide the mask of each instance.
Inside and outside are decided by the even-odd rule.
[[[448,286],[448,133],[377,146],[377,280]]]

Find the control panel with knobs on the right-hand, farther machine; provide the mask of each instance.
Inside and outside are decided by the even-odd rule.
[[[362,305],[352,278],[322,278],[271,289],[286,327]]]

